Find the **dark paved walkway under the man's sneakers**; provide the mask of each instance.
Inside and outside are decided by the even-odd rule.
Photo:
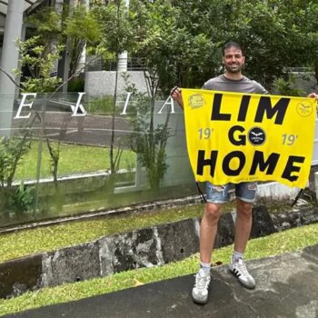
[[[193,303],[194,275],[149,283],[6,317],[21,318],[316,318],[318,245],[248,263],[257,287],[244,289],[226,266],[212,270],[209,302]]]

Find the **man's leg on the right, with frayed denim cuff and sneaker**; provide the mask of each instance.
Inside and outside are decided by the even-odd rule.
[[[243,261],[247,242],[250,238],[252,229],[252,208],[256,197],[255,183],[236,184],[236,221],[235,221],[235,239],[234,253],[231,258],[230,271],[238,278],[244,287],[254,288],[255,281],[248,273]]]

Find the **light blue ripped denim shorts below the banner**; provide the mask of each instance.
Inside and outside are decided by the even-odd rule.
[[[257,183],[246,182],[241,184],[234,184],[235,197],[253,204],[257,194]],[[209,182],[206,183],[206,202],[212,204],[225,204],[228,201],[230,184],[214,185]]]

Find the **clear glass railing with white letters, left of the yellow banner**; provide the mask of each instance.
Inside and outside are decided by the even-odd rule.
[[[15,182],[34,197],[2,227],[197,194],[184,114],[164,100],[19,95],[12,123],[11,134],[29,141]]]

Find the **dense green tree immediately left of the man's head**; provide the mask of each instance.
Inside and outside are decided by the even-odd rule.
[[[220,41],[214,40],[218,32],[211,29],[222,5],[215,0],[131,2],[139,42],[134,55],[143,56],[147,67],[155,70],[163,95],[175,84],[201,87],[219,74]]]

